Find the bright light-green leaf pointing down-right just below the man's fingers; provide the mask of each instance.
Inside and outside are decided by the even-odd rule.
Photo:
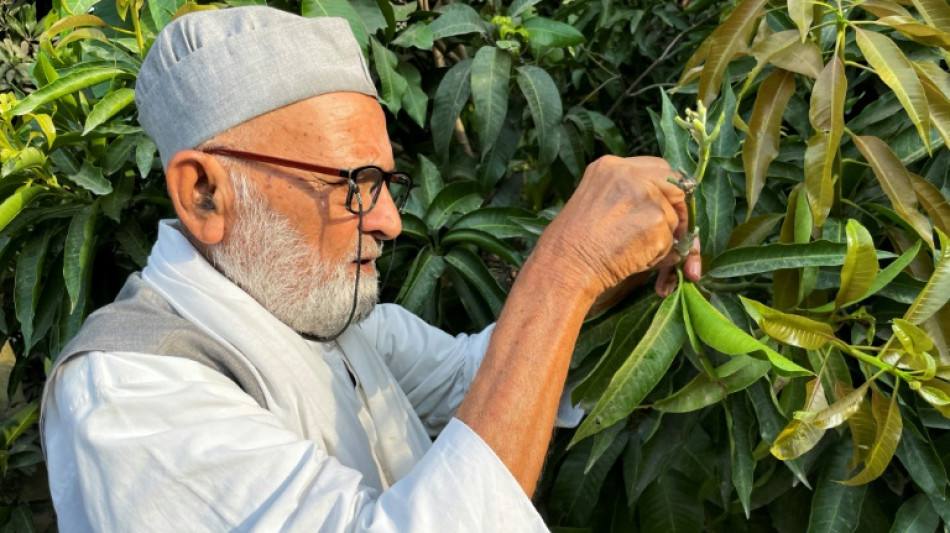
[[[681,289],[683,302],[690,324],[699,338],[727,355],[746,355],[764,352],[776,371],[785,375],[811,374],[807,369],[793,363],[784,355],[762,344],[748,333],[739,329],[718,309],[712,306],[692,283],[686,283]]]

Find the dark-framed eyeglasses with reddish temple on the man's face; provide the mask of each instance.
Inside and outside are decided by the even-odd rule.
[[[379,198],[379,193],[383,190],[384,183],[389,190],[393,203],[396,204],[396,209],[402,212],[402,208],[409,198],[409,189],[412,187],[412,178],[409,177],[409,174],[405,172],[388,172],[374,165],[344,169],[312,165],[291,159],[255,154],[241,150],[231,150],[229,148],[209,148],[203,151],[207,154],[237,157],[249,161],[257,161],[259,163],[268,163],[344,178],[346,180],[345,184],[348,186],[346,192],[346,210],[354,215],[366,214],[373,209],[373,207],[376,207],[376,200]],[[343,183],[329,183],[329,185],[343,185]],[[369,199],[369,206],[365,205],[367,199]]]

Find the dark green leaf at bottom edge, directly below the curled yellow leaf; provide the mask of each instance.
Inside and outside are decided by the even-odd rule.
[[[838,533],[858,529],[867,488],[848,487],[838,482],[848,474],[846,463],[851,451],[849,444],[842,440],[827,454],[815,486],[815,495],[811,499],[809,533]]]

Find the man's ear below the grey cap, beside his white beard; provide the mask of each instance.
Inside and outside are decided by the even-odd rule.
[[[182,150],[165,170],[168,195],[182,224],[203,244],[224,238],[234,215],[234,194],[228,171],[211,154]]]

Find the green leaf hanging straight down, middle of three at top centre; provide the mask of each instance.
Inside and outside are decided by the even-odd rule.
[[[495,145],[508,113],[511,56],[494,46],[484,46],[472,62],[472,102],[482,156]]]

